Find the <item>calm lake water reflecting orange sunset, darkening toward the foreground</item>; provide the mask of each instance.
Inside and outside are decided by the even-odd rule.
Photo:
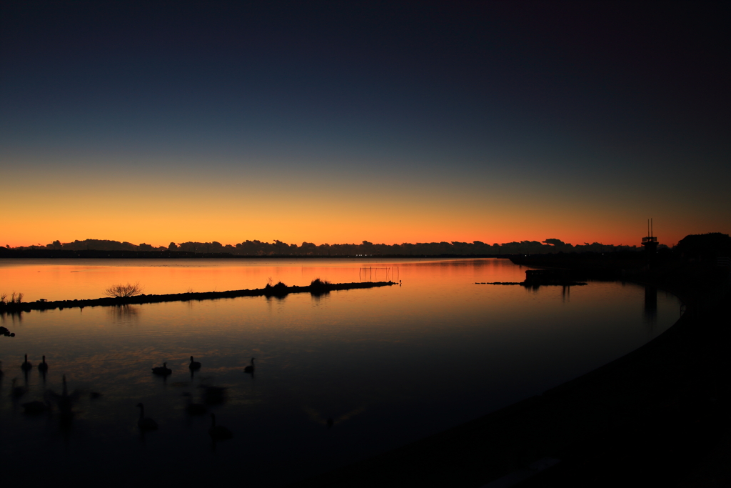
[[[368,269],[363,269],[366,267]],[[0,260],[0,293],[98,298],[401,279],[315,297],[244,297],[0,315],[2,478],[131,487],[238,476],[276,487],[338,468],[540,394],[638,348],[678,318],[675,296],[619,282],[518,282],[508,260]],[[23,354],[34,365],[20,369]],[[48,373],[36,365],[46,356]],[[202,368],[191,375],[194,356]],[[243,372],[251,357],[256,372]],[[173,374],[155,376],[167,361]],[[71,421],[21,405],[77,392]],[[27,388],[12,396],[16,386]],[[231,440],[186,413],[206,386]],[[101,397],[92,399],[91,392]],[[159,424],[137,428],[138,402]],[[327,426],[327,419],[333,426]]]

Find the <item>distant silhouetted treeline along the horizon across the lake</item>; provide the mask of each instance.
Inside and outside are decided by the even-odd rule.
[[[661,244],[660,247],[666,247]],[[8,247],[10,249],[10,247]],[[311,242],[287,244],[282,241],[262,242],[243,241],[240,244],[221,244],[220,242],[171,242],[167,247],[153,247],[150,244],[132,244],[130,242],[86,239],[85,241],[54,241],[43,246],[15,247],[19,251],[132,251],[144,252],[181,252],[205,255],[230,254],[234,256],[492,256],[515,254],[548,254],[555,252],[617,252],[642,250],[637,246],[613,246],[610,244],[567,244],[559,239],[545,241],[506,242],[504,244],[486,244],[485,242],[420,242],[417,244],[373,244],[363,241],[360,244],[320,244]]]

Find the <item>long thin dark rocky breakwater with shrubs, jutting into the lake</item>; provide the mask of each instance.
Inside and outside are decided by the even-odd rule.
[[[239,296],[287,296],[289,293],[312,293],[322,295],[330,291],[355,290],[360,288],[376,288],[381,286],[396,285],[395,282],[361,282],[361,283],[321,283],[310,286],[287,286],[278,284],[267,285],[266,288],[254,290],[230,290],[230,291],[208,291],[205,293],[172,293],[169,295],[137,295],[125,298],[105,298],[90,300],[60,300],[60,301],[31,301],[20,304],[0,304],[0,312],[30,312],[31,310],[51,310],[64,308],[83,307],[113,307],[127,304],[157,304],[163,301],[191,301],[191,300],[216,300],[235,299]]]

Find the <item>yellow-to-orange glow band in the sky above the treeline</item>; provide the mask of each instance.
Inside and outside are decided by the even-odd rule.
[[[122,172],[39,173],[13,176],[0,195],[0,245],[10,247],[84,239],[128,241],[167,247],[186,241],[237,244],[246,240],[287,244],[561,239],[640,245],[646,219],[654,217],[661,244],[691,233],[731,230],[722,211],[698,217],[696,209],[647,207],[612,195],[550,195],[537,182],[488,181],[463,187],[423,179],[379,181],[364,176],[317,179],[302,174],[217,180],[192,176],[145,176]],[[523,188],[525,187],[525,188]]]

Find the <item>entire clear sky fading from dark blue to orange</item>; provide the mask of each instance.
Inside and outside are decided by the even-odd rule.
[[[0,244],[731,233],[729,10],[2,1]]]

